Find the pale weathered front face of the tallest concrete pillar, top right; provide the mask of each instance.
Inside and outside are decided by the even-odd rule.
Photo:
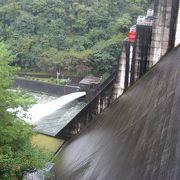
[[[173,0],[156,0],[155,20],[152,30],[152,44],[150,61],[152,65],[167,52],[171,25]]]

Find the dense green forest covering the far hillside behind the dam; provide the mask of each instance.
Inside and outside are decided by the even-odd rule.
[[[0,0],[0,41],[24,70],[102,75],[148,0]]]

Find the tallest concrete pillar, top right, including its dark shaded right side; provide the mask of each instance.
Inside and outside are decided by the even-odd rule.
[[[179,0],[155,1],[155,21],[150,56],[152,65],[156,64],[168,50],[174,47],[178,7]]]

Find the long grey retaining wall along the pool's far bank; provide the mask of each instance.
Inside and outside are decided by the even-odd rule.
[[[33,92],[43,92],[55,96],[62,96],[79,91],[79,88],[77,87],[53,85],[49,83],[25,80],[21,78],[15,79],[13,83],[13,88],[18,87]]]

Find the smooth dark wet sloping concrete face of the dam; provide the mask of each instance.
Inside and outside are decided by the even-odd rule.
[[[180,179],[180,47],[59,154],[57,180]]]

